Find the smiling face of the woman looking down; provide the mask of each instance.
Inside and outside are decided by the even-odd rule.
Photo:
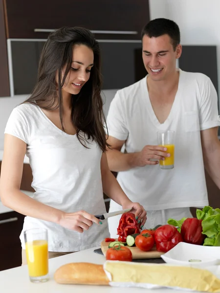
[[[88,81],[93,66],[94,54],[86,45],[75,45],[72,50],[72,65],[62,88],[63,96],[76,95]],[[63,75],[65,73],[63,70]]]

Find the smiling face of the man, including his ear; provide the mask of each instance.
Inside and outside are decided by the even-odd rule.
[[[182,46],[179,44],[174,51],[171,38],[162,35],[142,40],[142,58],[149,77],[153,81],[167,80],[176,70],[176,59],[181,56]]]

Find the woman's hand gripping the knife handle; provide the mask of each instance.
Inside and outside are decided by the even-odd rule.
[[[93,223],[98,225],[102,224],[95,216],[89,214],[85,210],[80,210],[72,213],[64,212],[58,224],[64,228],[83,233],[83,231],[88,230]]]

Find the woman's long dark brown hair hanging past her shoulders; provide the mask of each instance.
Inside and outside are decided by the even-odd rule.
[[[59,107],[62,130],[65,131],[62,87],[71,70],[72,50],[76,44],[83,44],[92,49],[94,65],[91,68],[89,80],[80,93],[72,95],[72,123],[76,128],[77,138],[83,146],[88,147],[86,142],[91,138],[105,152],[106,146],[109,145],[106,142],[104,130],[104,126],[106,129],[107,126],[101,97],[100,49],[98,42],[88,29],[62,27],[50,33],[41,54],[37,83],[31,96],[24,103],[37,104],[46,110]],[[62,78],[65,66],[66,70]],[[58,83],[56,83],[57,73]]]

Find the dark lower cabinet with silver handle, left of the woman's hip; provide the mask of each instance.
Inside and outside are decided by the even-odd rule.
[[[0,271],[22,265],[20,234],[24,215],[12,211],[0,214]]]

